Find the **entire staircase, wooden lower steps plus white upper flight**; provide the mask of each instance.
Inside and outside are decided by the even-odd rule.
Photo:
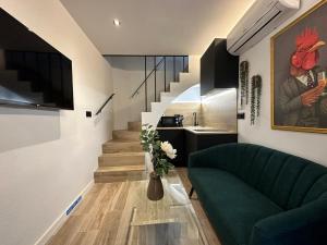
[[[156,69],[154,70],[155,72]],[[150,72],[148,76],[150,76],[153,72]],[[143,87],[146,79],[132,95],[132,98],[137,95],[138,89]],[[160,93],[160,101],[150,103],[150,112],[142,112],[142,124],[148,123],[156,126],[166,108],[173,99],[198,83],[199,57],[190,56],[189,72],[180,72],[179,82],[174,81],[169,83],[169,91]],[[144,179],[146,169],[145,161],[146,159],[148,161],[148,158],[145,157],[145,152],[143,152],[140,145],[142,124],[141,122],[129,122],[128,130],[112,132],[113,139],[102,145],[102,155],[98,159],[99,167],[94,173],[95,183]]]

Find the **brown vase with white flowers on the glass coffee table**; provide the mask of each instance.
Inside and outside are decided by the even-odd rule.
[[[169,142],[159,140],[158,132],[148,124],[142,126],[140,139],[143,150],[152,156],[154,167],[154,172],[149,174],[147,197],[150,200],[159,200],[164,197],[161,177],[173,168],[170,160],[177,157],[177,150]]]

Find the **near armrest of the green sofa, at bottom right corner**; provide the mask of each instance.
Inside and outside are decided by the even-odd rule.
[[[250,245],[327,244],[327,199],[318,199],[258,221]]]

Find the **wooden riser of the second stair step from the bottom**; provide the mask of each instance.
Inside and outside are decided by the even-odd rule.
[[[114,166],[141,166],[144,164],[144,156],[140,157],[99,157],[99,167]]]

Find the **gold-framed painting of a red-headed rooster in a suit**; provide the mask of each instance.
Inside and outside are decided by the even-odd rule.
[[[271,127],[327,133],[327,0],[271,45]]]

